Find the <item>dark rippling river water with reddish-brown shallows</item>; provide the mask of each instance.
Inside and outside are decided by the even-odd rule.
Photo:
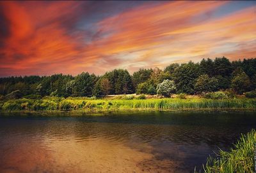
[[[253,112],[0,116],[0,172],[194,172],[256,128]]]

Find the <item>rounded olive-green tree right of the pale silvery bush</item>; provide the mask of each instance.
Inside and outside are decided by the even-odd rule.
[[[218,89],[218,80],[215,77],[209,77],[209,75],[200,75],[196,79],[195,90],[199,93],[212,92]]]

